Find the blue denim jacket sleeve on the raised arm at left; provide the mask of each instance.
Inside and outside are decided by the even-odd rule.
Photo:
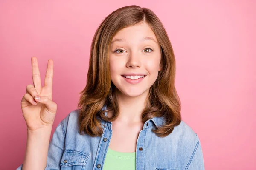
[[[53,133],[52,140],[49,142],[47,166],[44,170],[60,170],[61,157],[64,150],[65,135],[67,130],[67,119],[69,115],[63,119]],[[21,164],[16,170],[22,170]]]

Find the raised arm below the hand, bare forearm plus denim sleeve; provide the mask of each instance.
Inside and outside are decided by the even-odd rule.
[[[50,170],[50,168],[60,170],[60,161],[64,150],[66,125],[67,119],[62,120],[58,124],[50,143],[49,131],[45,134],[41,133],[40,135],[36,134],[34,136],[28,136],[24,163],[21,164],[17,170],[29,170],[31,169],[30,167],[36,167],[32,168],[33,170]]]

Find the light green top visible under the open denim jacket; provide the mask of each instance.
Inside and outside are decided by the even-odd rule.
[[[103,170],[135,170],[135,152],[117,152],[108,148]]]

